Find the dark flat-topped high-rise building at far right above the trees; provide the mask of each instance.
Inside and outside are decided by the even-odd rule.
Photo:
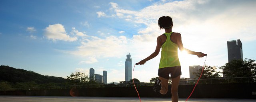
[[[243,59],[243,48],[240,39],[228,41],[228,62],[233,59]]]

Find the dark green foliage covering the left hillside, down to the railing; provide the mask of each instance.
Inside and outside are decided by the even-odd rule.
[[[62,77],[44,76],[33,71],[0,66],[0,89],[28,90],[40,87],[63,86],[67,79]]]

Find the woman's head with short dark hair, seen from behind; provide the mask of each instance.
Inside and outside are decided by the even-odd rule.
[[[170,29],[172,24],[172,18],[169,16],[162,16],[158,19],[158,26],[160,29]]]

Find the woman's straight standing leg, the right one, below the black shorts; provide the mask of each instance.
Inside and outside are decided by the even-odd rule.
[[[178,95],[178,86],[179,86],[179,84],[180,84],[180,75],[176,78],[172,78],[172,89],[171,89],[172,102],[178,102],[178,100],[179,100],[179,95]]]

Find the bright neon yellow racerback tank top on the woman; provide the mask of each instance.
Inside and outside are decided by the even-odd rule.
[[[170,39],[172,32],[164,33],[166,35],[166,41],[161,46],[161,59],[159,63],[159,69],[165,67],[180,66],[180,60],[178,57],[178,45],[173,43]]]

